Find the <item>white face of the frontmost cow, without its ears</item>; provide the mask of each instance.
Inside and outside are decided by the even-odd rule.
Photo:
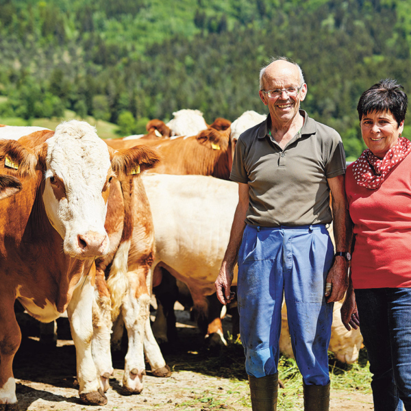
[[[43,202],[51,225],[71,256],[103,256],[109,240],[104,229],[110,179],[108,147],[95,128],[69,121],[47,140]]]

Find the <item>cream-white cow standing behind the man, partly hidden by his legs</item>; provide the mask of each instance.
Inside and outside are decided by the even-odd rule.
[[[238,185],[201,175],[149,174],[142,176],[142,182],[153,214],[157,253],[152,267],[165,266],[186,283],[195,307],[201,310],[206,296],[215,291],[238,202]],[[362,337],[359,331],[347,332],[340,321],[341,304],[334,306],[329,349],[338,360],[351,363],[358,358]],[[280,351],[292,356],[285,310],[283,320]]]

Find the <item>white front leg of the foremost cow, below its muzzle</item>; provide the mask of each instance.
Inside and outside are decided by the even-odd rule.
[[[77,286],[73,292],[67,314],[76,351],[80,399],[88,405],[104,405],[107,403],[107,398],[101,389],[91,353],[94,288],[90,283],[90,276],[88,275],[84,284]]]

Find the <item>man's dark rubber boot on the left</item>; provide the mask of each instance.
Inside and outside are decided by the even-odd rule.
[[[253,411],[277,411],[278,373],[256,378],[249,375]]]

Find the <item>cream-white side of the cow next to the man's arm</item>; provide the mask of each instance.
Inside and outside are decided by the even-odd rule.
[[[202,175],[158,174],[143,176],[143,183],[153,214],[155,260],[213,289],[238,203],[238,185]]]

